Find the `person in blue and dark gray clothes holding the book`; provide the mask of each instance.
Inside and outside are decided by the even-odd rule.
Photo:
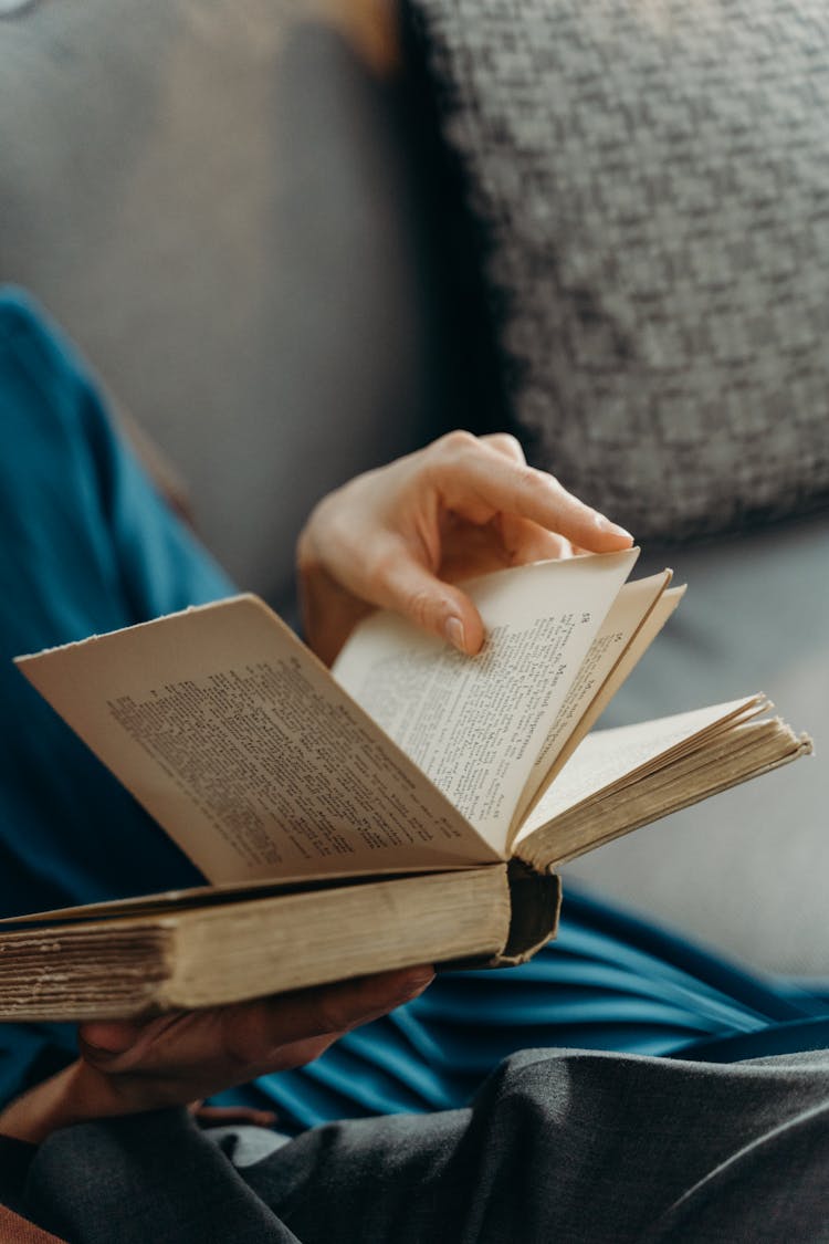
[[[4,914],[195,882],[7,658],[232,585],[155,494],[85,364],[15,291],[0,294],[0,409]],[[306,636],[331,661],[359,617],[385,606],[472,658],[485,637],[457,586],[465,576],[629,544],[528,468],[512,438],[455,433],[312,514],[298,549]],[[433,968],[420,965],[140,1024],[91,1023],[77,1044],[66,1026],[5,1025],[0,1200],[83,1244],[829,1239],[823,1000],[585,897],[575,913],[541,969],[497,980],[462,974],[424,994]],[[546,1049],[511,1054],[516,1037],[487,1040],[527,1035],[508,980]],[[413,1008],[436,993],[430,1024]],[[590,998],[602,1001],[593,1028]],[[451,1013],[464,1008],[459,1028]],[[587,1037],[578,1045],[605,1049],[561,1040],[574,1031]],[[773,1031],[774,1046],[747,1045],[752,1031]],[[737,1061],[716,1061],[716,1040],[706,1047],[701,1034],[736,1036]],[[355,1039],[363,1046],[349,1051]],[[441,1064],[452,1041],[466,1077]],[[298,1079],[343,1049],[327,1084]],[[657,1056],[672,1050],[691,1057]],[[290,1085],[293,1138],[200,1126],[221,1116],[199,1118],[194,1103],[250,1081],[259,1096],[242,1093],[237,1108],[276,1102],[280,1125],[277,1086]],[[350,1117],[303,1128],[314,1113],[333,1120],[337,1101]]]

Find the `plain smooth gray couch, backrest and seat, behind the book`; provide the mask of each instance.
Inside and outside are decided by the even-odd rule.
[[[492,382],[476,229],[423,92],[420,62],[369,71],[287,2],[40,0],[0,20],[0,279],[66,325],[188,479],[210,547],[288,613],[322,493],[446,427],[521,419]],[[813,977],[829,975],[828,539],[818,513],[646,547],[690,591],[611,722],[763,689],[818,754],[568,870]]]

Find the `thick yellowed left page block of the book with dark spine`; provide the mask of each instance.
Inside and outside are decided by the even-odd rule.
[[[418,963],[521,963],[559,902],[552,873],[490,865],[0,933],[0,1019],[127,1019]]]

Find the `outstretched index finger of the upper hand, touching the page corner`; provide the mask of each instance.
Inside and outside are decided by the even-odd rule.
[[[629,547],[633,536],[568,493],[546,471],[523,465],[465,433],[436,442],[429,469],[444,505],[472,522],[497,513],[529,519],[590,552]]]

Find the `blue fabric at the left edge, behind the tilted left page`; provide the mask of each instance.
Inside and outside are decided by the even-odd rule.
[[[113,433],[87,368],[0,292],[0,912],[193,884],[198,870],[17,673],[22,652],[232,591]],[[0,1030],[0,1100],[73,1031]]]

